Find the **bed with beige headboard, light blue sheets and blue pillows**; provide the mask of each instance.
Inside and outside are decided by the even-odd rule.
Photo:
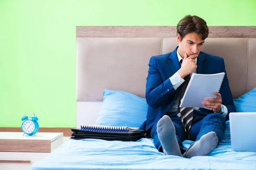
[[[256,28],[209,29],[202,51],[224,58],[238,111],[256,111],[252,105],[256,99]],[[139,127],[146,119],[144,97],[149,58],[177,46],[175,27],[79,26],[76,46],[76,126]],[[191,143],[183,142],[185,147]],[[154,147],[152,139],[145,138],[136,142],[70,139],[35,162],[31,169],[256,170],[256,153],[231,151],[227,121],[224,140],[208,156],[165,156]]]

